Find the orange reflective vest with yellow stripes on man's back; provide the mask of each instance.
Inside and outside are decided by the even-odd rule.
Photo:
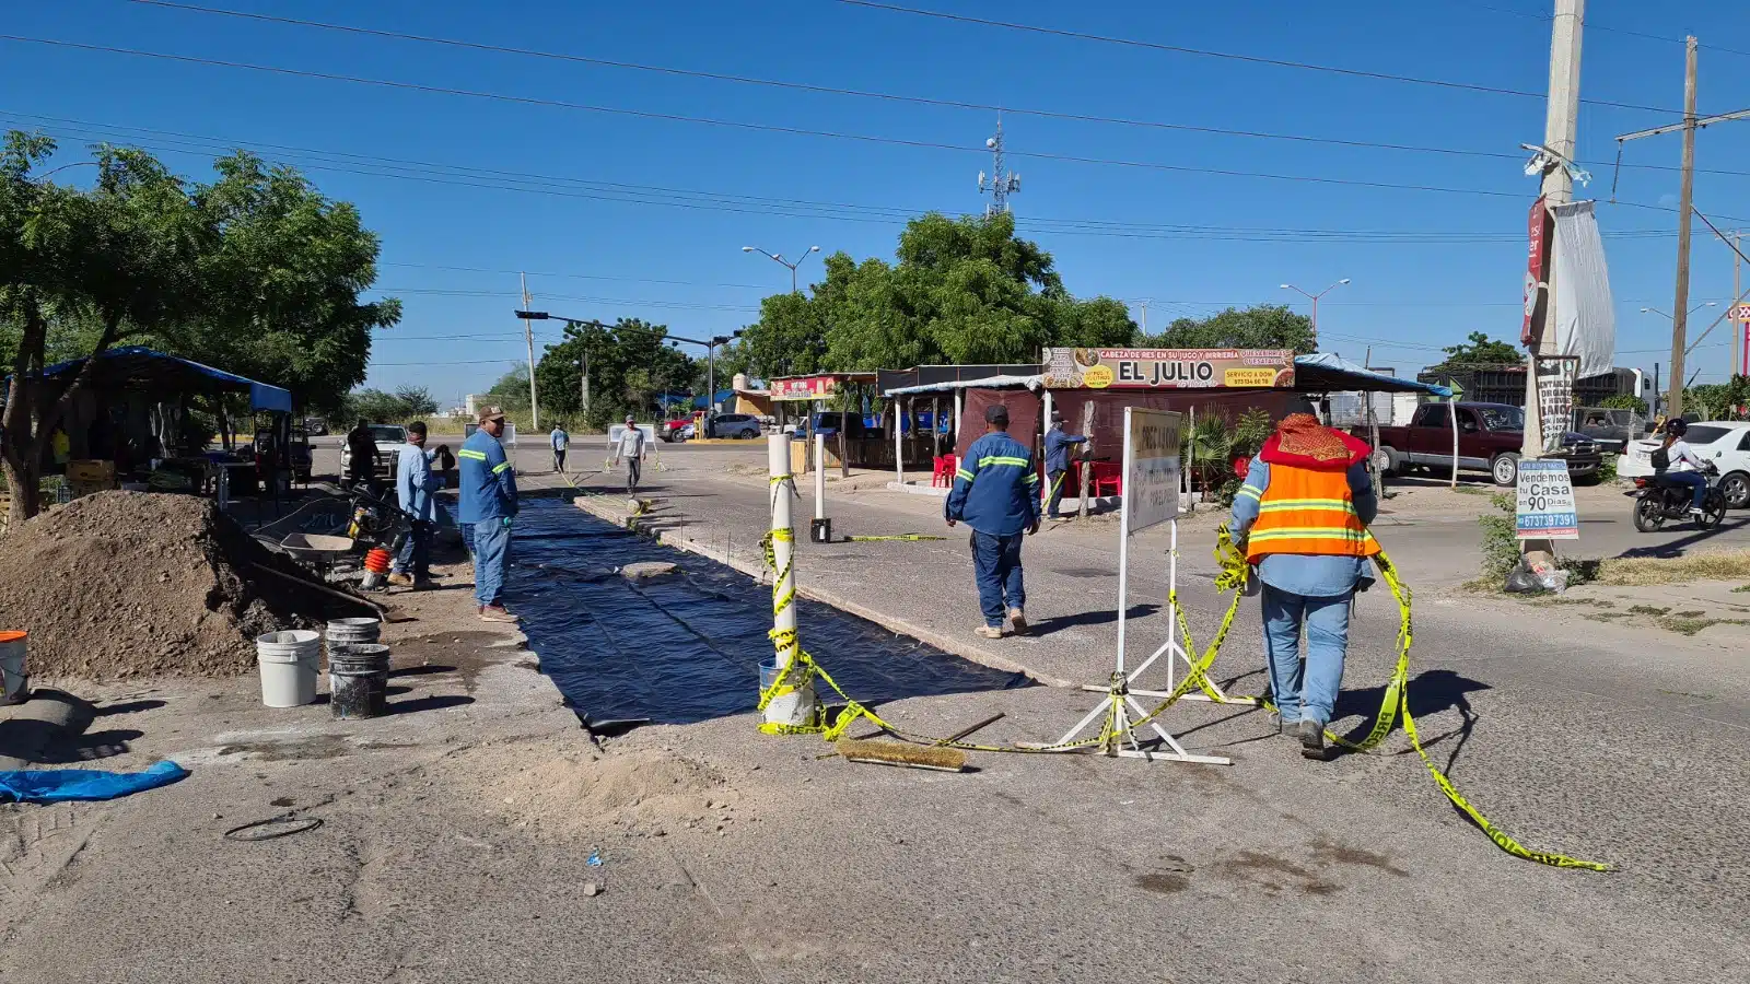
[[[1270,464],[1270,487],[1258,499],[1258,522],[1246,538],[1246,560],[1256,564],[1270,553],[1379,553],[1379,541],[1354,511],[1346,467]]]

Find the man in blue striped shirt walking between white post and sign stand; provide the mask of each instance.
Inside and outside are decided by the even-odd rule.
[[[1003,637],[1004,615],[1027,630],[1027,592],[1020,578],[1022,532],[1040,532],[1040,473],[1032,450],[1008,436],[1008,408],[985,408],[985,434],[966,448],[943,510],[948,525],[973,527],[973,574],[985,623],[978,634]]]

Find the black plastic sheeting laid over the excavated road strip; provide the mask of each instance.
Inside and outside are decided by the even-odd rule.
[[[681,573],[630,581],[635,562]],[[688,725],[754,711],[772,658],[772,588],[704,557],[609,525],[569,501],[525,501],[511,546],[509,608],[528,646],[583,718]],[[807,578],[807,571],[800,573]],[[835,608],[800,601],[802,644],[850,697],[905,697],[1027,686]],[[822,702],[838,702],[821,693]]]

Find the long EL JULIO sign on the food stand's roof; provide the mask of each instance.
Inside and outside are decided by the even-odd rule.
[[[1295,385],[1288,348],[1046,348],[1050,389],[1272,389]]]

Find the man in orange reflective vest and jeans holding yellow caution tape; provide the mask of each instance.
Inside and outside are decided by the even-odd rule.
[[[1264,650],[1281,732],[1326,758],[1325,725],[1342,688],[1349,606],[1374,574],[1379,511],[1367,443],[1318,422],[1297,399],[1234,497],[1232,532],[1264,581]],[[1300,627],[1307,658],[1300,662]]]

